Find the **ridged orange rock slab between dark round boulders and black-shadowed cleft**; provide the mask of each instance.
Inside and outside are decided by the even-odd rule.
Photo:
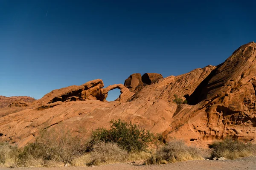
[[[215,66],[208,65],[177,77],[169,76],[164,79],[159,79],[157,83],[143,87],[134,94],[129,101],[161,99],[172,102],[172,100],[175,99],[175,94],[185,100],[189,98],[198,85],[200,85],[215,68]]]

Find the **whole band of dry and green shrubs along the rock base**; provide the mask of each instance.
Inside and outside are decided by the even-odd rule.
[[[125,161],[146,160],[145,164],[166,164],[177,161],[200,160],[200,150],[189,147],[181,140],[163,144],[160,134],[153,135],[148,130],[120,119],[111,120],[110,129],[99,128],[93,131],[91,145],[86,152],[86,144],[79,136],[69,131],[42,130],[35,140],[18,149],[8,143],[0,143],[0,163],[7,160],[18,166],[91,166]],[[151,148],[148,152],[146,148]],[[237,140],[225,139],[211,146],[212,157],[236,159],[250,156],[251,145]]]

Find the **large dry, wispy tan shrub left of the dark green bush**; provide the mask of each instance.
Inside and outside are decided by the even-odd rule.
[[[50,161],[72,163],[84,153],[81,139],[69,131],[43,130],[34,143],[25,146],[19,154],[19,165],[39,166]]]

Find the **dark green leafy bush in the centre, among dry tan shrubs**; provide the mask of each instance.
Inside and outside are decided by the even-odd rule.
[[[136,124],[123,122],[120,119],[110,121],[111,128],[98,128],[92,133],[92,143],[95,142],[113,142],[120,147],[131,151],[141,151],[148,147],[148,143],[152,142],[153,135],[149,130],[138,127]]]

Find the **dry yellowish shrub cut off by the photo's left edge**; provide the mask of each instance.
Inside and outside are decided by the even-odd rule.
[[[0,143],[0,164],[6,163],[8,159],[11,159],[13,162],[16,162],[17,155],[17,146],[12,146],[7,142]]]

